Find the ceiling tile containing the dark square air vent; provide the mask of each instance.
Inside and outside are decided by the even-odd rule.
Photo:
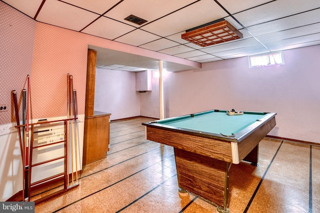
[[[139,25],[124,20],[130,14],[147,20],[146,23],[179,9],[194,0],[128,0],[120,2],[105,16],[138,27]],[[147,12],[146,12],[147,11]],[[143,24],[142,24],[143,25]]]

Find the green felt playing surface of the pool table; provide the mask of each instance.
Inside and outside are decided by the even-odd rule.
[[[236,134],[264,116],[264,113],[244,113],[243,115],[230,116],[225,111],[209,111],[194,114],[194,117],[186,115],[173,119],[164,119],[157,123],[199,132],[231,135],[232,133]]]

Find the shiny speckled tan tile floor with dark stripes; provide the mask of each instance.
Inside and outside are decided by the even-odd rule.
[[[141,123],[150,120],[112,121],[107,158],[84,166],[78,187],[35,212],[216,213],[197,196],[179,197],[173,148],[144,139]],[[232,164],[230,213],[320,212],[319,146],[264,138],[258,165]]]

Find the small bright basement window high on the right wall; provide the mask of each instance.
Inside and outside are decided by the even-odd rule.
[[[249,67],[261,67],[261,66],[272,66],[278,64],[284,64],[282,52],[271,52],[259,55],[250,55]]]

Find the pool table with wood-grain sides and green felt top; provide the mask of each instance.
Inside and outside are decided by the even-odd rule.
[[[179,193],[190,192],[228,212],[231,164],[258,162],[258,144],[275,126],[276,113],[228,115],[210,110],[142,123],[147,140],[174,148]]]

